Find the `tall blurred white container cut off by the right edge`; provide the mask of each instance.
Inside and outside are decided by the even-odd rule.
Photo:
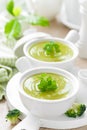
[[[87,0],[80,3],[80,12],[82,18],[79,31],[80,39],[76,45],[79,49],[79,56],[87,59]]]

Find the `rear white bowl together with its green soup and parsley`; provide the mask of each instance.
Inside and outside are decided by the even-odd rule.
[[[31,40],[24,45],[23,51],[31,67],[69,70],[78,56],[78,49],[73,43],[55,37]]]

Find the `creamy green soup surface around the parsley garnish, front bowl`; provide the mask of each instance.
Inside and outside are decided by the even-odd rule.
[[[57,89],[54,91],[41,92],[38,88],[38,84],[40,83],[39,77],[41,75],[42,73],[35,74],[24,80],[23,90],[28,95],[39,99],[56,100],[64,98],[71,93],[72,83],[70,80],[62,75],[55,73],[46,73],[46,75],[50,76],[53,80],[56,81]]]

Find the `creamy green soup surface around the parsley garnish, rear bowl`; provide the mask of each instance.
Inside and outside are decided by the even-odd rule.
[[[60,62],[73,57],[73,50],[66,44],[57,41],[55,41],[55,43],[58,44],[60,52],[54,55],[47,55],[43,48],[48,42],[49,41],[43,41],[32,44],[28,49],[29,55],[37,60],[45,62]]]

